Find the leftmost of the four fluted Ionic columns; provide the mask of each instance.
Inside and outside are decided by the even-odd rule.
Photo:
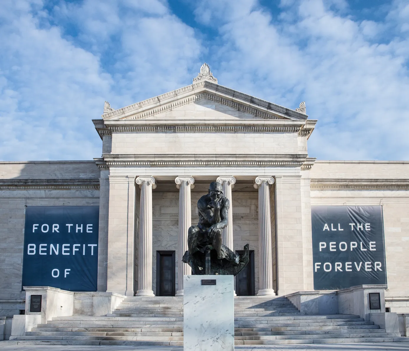
[[[155,178],[137,177],[141,188],[140,229],[139,229],[139,267],[138,296],[155,296],[152,290],[152,187],[156,188]]]

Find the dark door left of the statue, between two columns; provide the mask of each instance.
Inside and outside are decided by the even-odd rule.
[[[175,251],[157,251],[156,295],[175,296]]]

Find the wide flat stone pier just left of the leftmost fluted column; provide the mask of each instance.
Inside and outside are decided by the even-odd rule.
[[[109,176],[107,291],[133,296],[135,176]]]

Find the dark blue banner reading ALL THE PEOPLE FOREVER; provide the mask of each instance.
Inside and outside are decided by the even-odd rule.
[[[312,206],[315,290],[387,284],[382,206]]]

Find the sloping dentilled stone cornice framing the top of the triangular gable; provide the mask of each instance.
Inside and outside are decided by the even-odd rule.
[[[255,98],[234,89],[212,83],[208,80],[193,83],[187,87],[146,99],[118,110],[105,109],[104,121],[123,119],[145,119],[177,107],[208,99],[232,107],[238,111],[253,114],[261,119],[284,119],[305,121],[308,115],[286,107]]]

